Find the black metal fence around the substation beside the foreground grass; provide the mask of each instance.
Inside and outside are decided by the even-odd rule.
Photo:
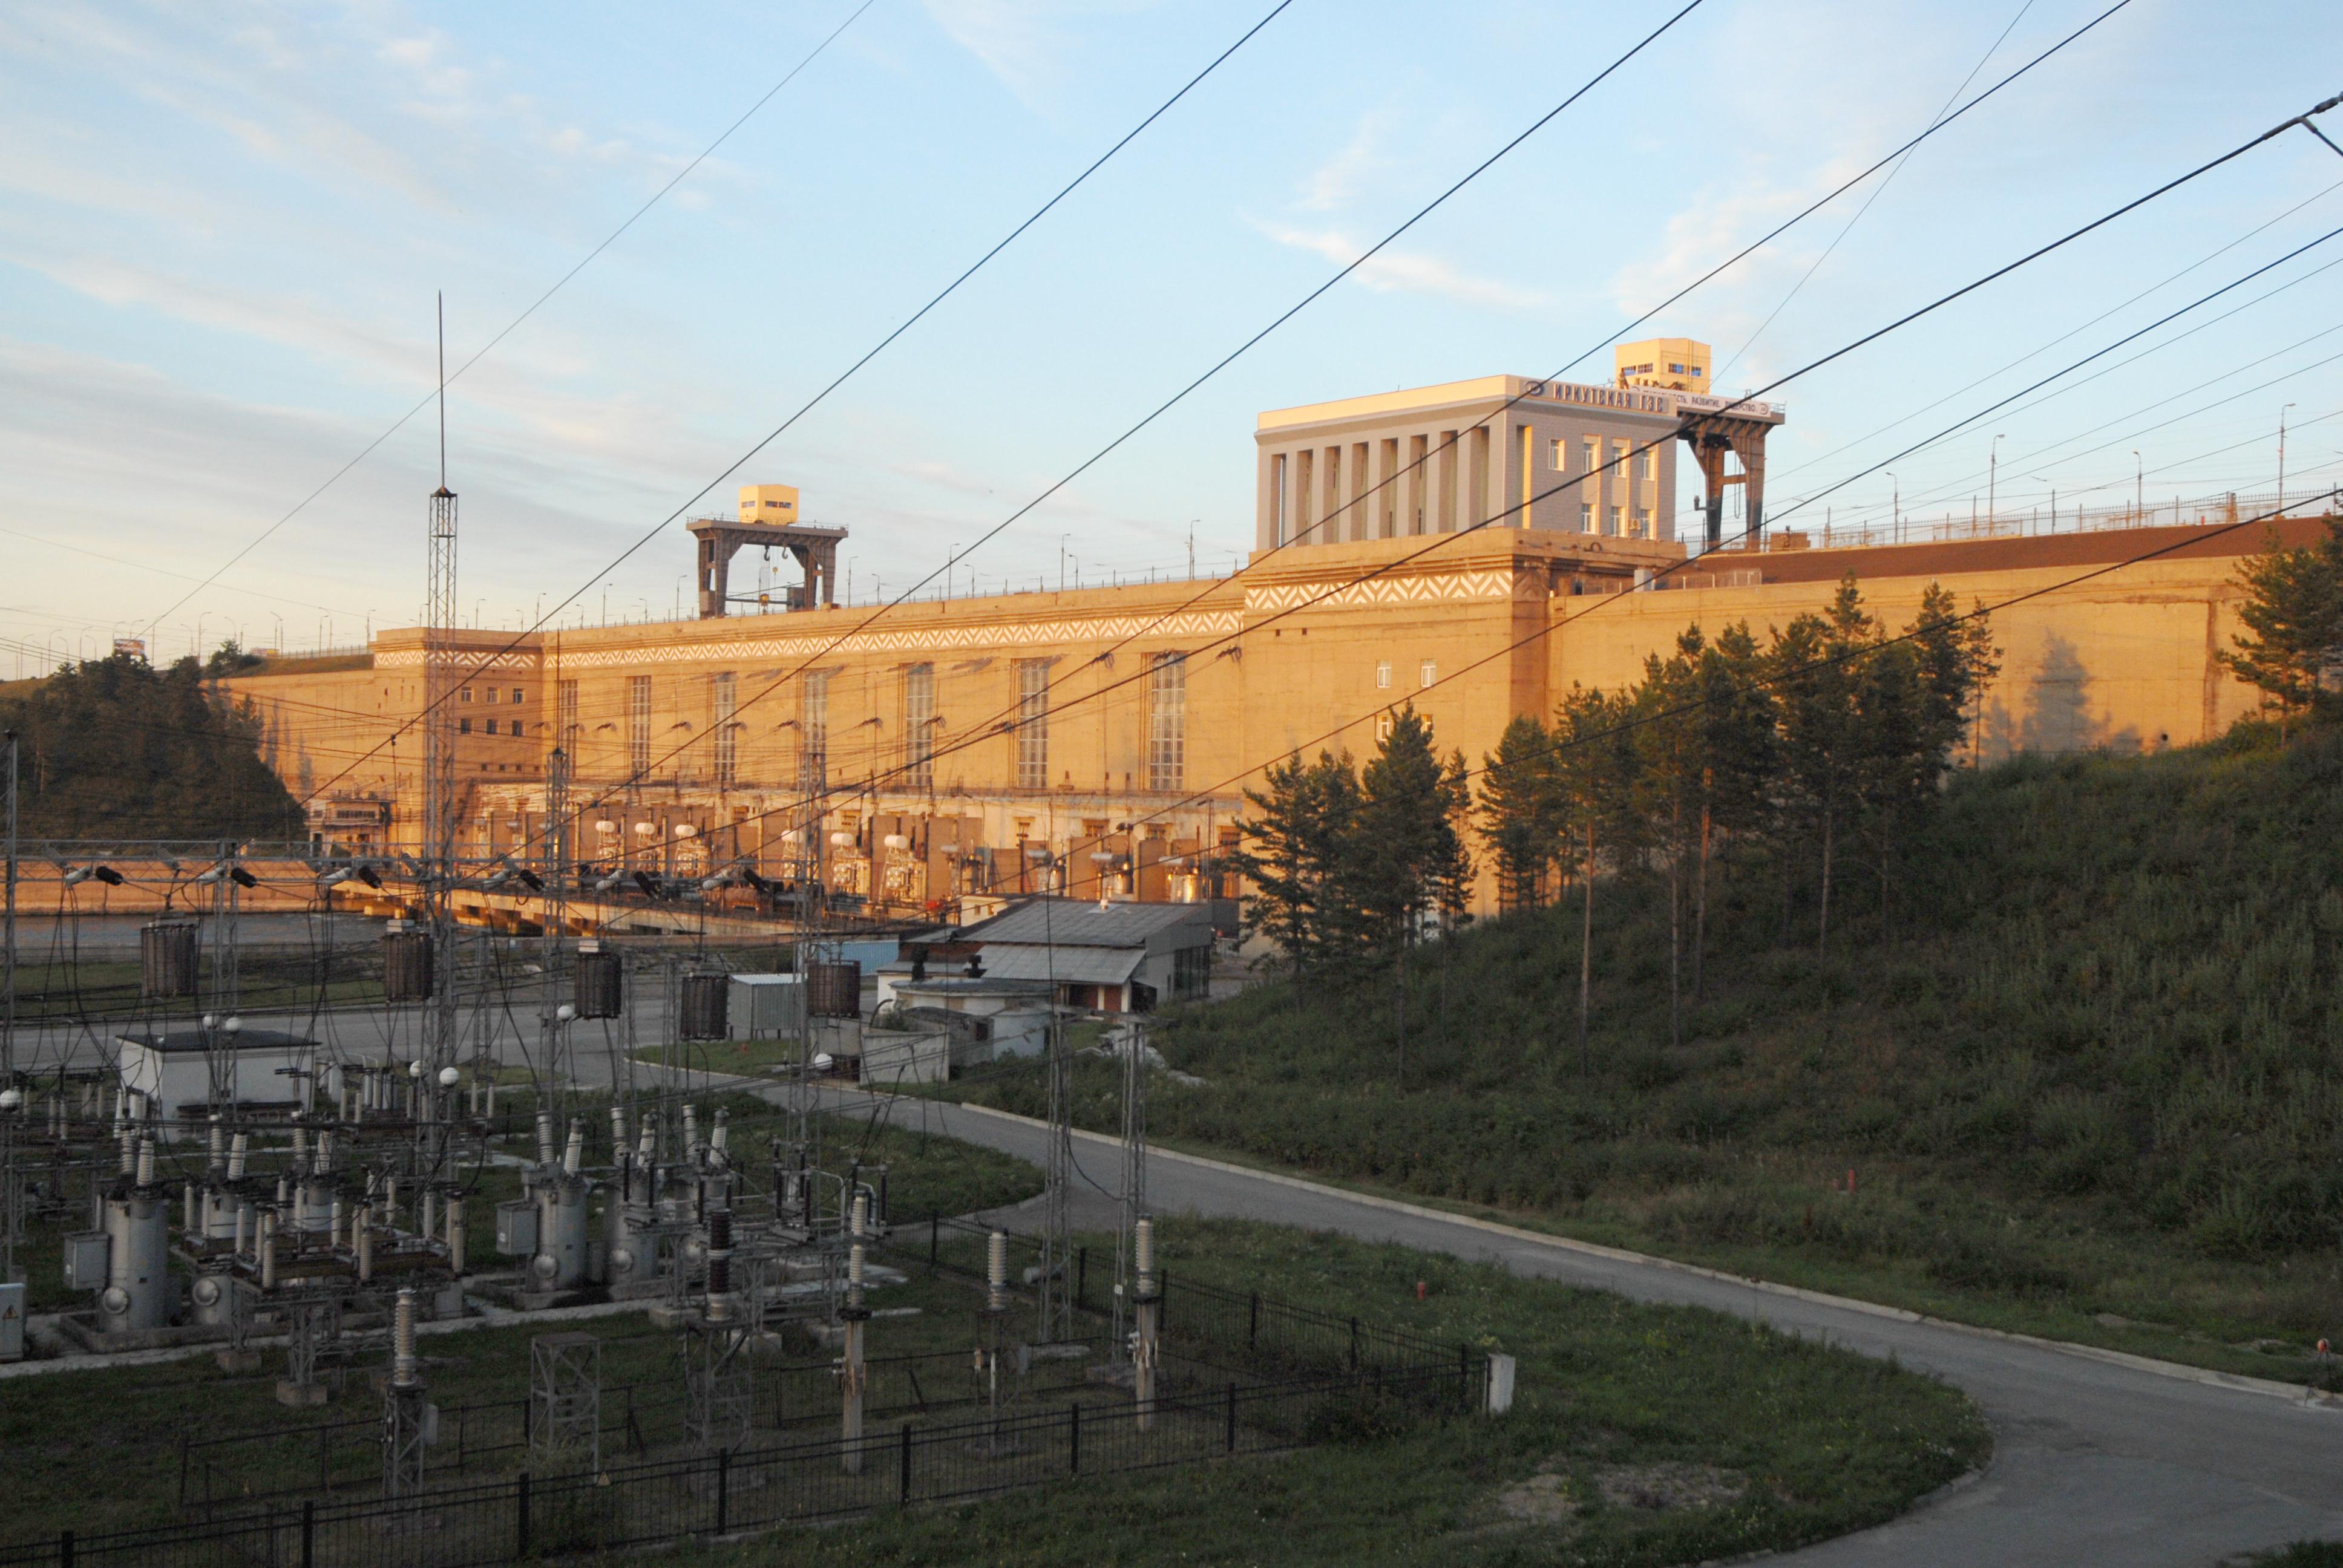
[[[900,1226],[890,1249],[982,1277],[972,1263],[984,1238],[982,1226],[937,1216]],[[1019,1263],[1038,1256],[1026,1238],[1012,1252]],[[1092,1282],[1087,1254],[1068,1261],[1068,1294],[1092,1324],[1113,1303],[1104,1263],[1099,1273]],[[1036,1357],[1003,1404],[986,1402],[965,1350],[874,1357],[860,1439],[813,1434],[815,1423],[839,1418],[832,1362],[766,1364],[750,1437],[731,1451],[682,1448],[677,1390],[614,1385],[602,1455],[623,1463],[579,1474],[471,1479],[480,1467],[527,1463],[530,1402],[450,1406],[433,1448],[438,1479],[410,1500],[335,1495],[380,1488],[380,1420],[190,1439],[180,1502],[197,1519],[0,1547],[0,1568],[462,1568],[612,1552],[1272,1453],[1469,1413],[1485,1399],[1488,1357],[1469,1345],[1172,1273],[1160,1287],[1162,1355],[1146,1409],[1120,1376],[1111,1336],[1085,1334]],[[216,1484],[206,1460],[234,1448],[269,1455],[281,1486]]]

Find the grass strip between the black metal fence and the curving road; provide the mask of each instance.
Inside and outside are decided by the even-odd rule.
[[[1518,1404],[1272,1460],[883,1512],[792,1535],[790,1561],[1692,1563],[1891,1519],[1989,1451],[1954,1390],[1715,1313],[1242,1221],[1172,1221],[1164,1240],[1179,1273],[1502,1345],[1521,1357]],[[1715,1502],[1621,1495],[1664,1474],[1706,1477]],[[670,1561],[773,1556],[761,1540]]]

